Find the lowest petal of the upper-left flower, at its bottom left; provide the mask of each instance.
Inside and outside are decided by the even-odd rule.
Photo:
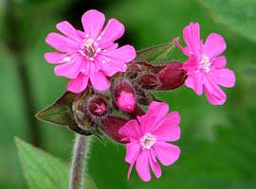
[[[79,94],[87,87],[87,83],[88,83],[88,77],[82,74],[79,74],[78,77],[70,80],[67,83],[66,88],[67,88],[67,91]]]

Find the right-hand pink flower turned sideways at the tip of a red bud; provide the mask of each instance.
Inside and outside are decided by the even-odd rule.
[[[183,69],[188,72],[185,85],[201,95],[205,92],[210,104],[222,105],[226,101],[226,94],[218,85],[233,87],[234,73],[226,68],[226,57],[219,56],[226,49],[224,39],[216,33],[210,33],[205,43],[200,39],[198,23],[191,23],[183,29],[186,47],[182,47],[174,39],[176,46],[189,57]]]

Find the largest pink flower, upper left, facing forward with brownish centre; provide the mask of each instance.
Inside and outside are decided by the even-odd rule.
[[[119,47],[115,43],[123,35],[124,26],[112,18],[103,28],[104,22],[104,14],[91,9],[82,15],[84,31],[64,21],[57,24],[57,29],[64,35],[47,35],[46,43],[60,52],[48,52],[45,58],[49,63],[57,64],[55,75],[71,79],[67,84],[68,91],[82,92],[89,79],[97,90],[104,91],[110,86],[107,77],[125,72],[126,62],[135,59],[133,46]]]

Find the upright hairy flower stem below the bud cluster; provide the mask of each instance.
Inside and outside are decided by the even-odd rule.
[[[74,145],[72,166],[70,169],[69,189],[83,188],[85,158],[89,146],[88,138],[88,136],[84,136],[81,134],[76,135],[76,143]]]

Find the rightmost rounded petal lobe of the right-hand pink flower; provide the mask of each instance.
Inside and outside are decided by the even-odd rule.
[[[217,84],[224,87],[233,87],[235,84],[235,76],[233,71],[228,68],[214,69],[210,72]]]

